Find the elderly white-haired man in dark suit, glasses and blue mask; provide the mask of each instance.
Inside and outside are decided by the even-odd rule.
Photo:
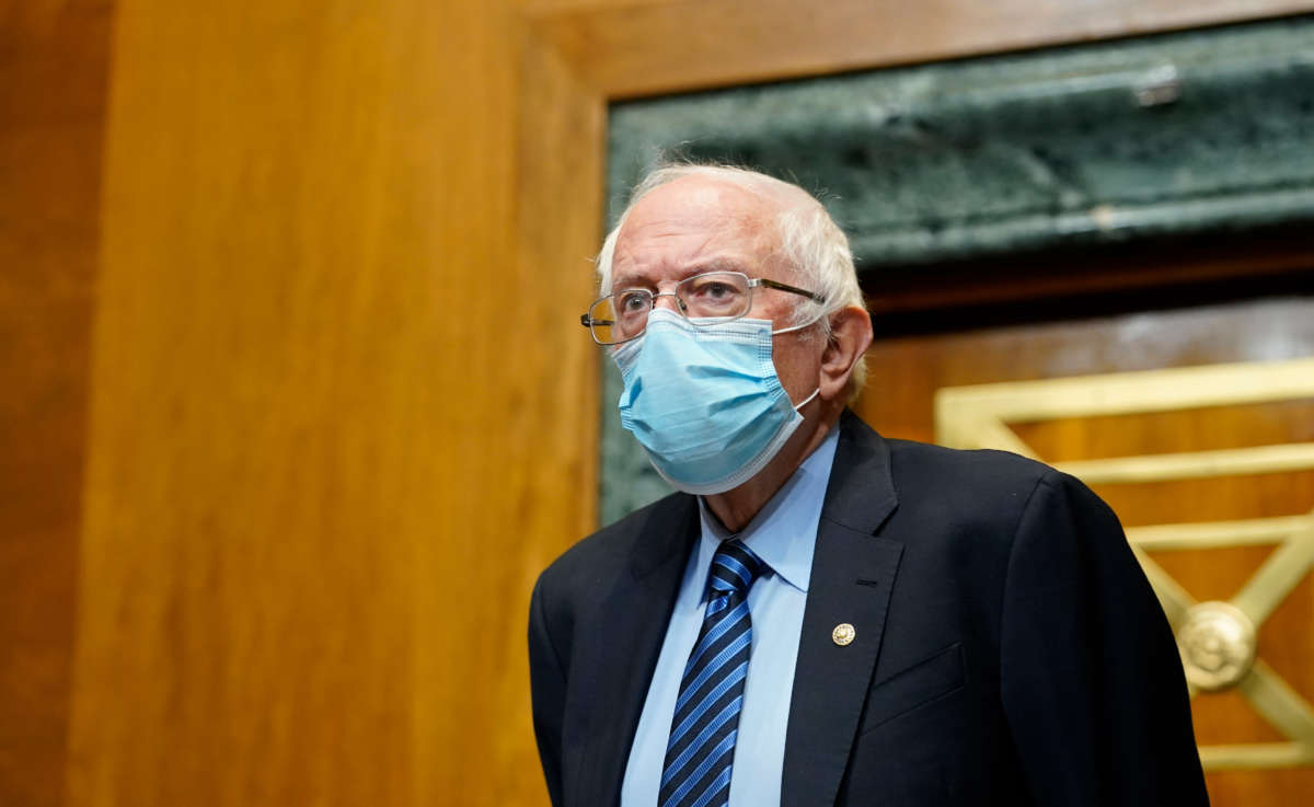
[[[845,405],[871,321],[798,187],[666,167],[585,314],[679,490],[539,578],[557,807],[1206,804],[1183,672],[1113,513]],[[880,379],[880,385],[897,384]]]

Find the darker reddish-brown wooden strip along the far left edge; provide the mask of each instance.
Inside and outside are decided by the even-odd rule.
[[[0,25],[0,804],[63,799],[112,11]]]

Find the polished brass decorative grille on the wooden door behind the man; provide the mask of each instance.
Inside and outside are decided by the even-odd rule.
[[[1314,357],[1215,364],[1043,381],[943,388],[937,440],[1039,459],[1010,423],[1127,415],[1314,398]],[[1314,443],[1120,456],[1054,463],[1089,485],[1147,484],[1314,469]],[[1177,635],[1192,698],[1236,691],[1281,743],[1202,745],[1206,770],[1314,765],[1314,707],[1256,655],[1259,627],[1314,568],[1314,510],[1277,518],[1131,527],[1127,540]],[[1197,602],[1147,552],[1238,545],[1275,551],[1226,602]]]

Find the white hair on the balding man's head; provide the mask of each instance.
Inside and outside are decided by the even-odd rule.
[[[607,234],[598,252],[598,275],[602,294],[611,293],[611,262],[616,252],[616,239],[629,212],[645,196],[657,188],[678,179],[696,176],[723,181],[759,197],[767,197],[777,204],[775,237],[781,256],[794,272],[794,284],[821,297],[820,302],[799,297],[794,309],[792,325],[819,321],[821,334],[830,338],[830,314],[848,306],[866,310],[862,288],[858,285],[858,272],[853,265],[853,252],[849,239],[834,223],[827,209],[803,188],[778,180],[774,176],[720,164],[673,163],[658,166],[645,175],[629,195],[616,226]],[[850,397],[862,390],[867,368],[859,356],[849,376]]]

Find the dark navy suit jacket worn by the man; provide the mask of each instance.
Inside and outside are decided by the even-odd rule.
[[[533,723],[557,807],[619,802],[698,532],[695,498],[669,496],[539,578]],[[1108,506],[1038,463],[886,440],[846,413],[781,803],[1208,804],[1172,634]]]

